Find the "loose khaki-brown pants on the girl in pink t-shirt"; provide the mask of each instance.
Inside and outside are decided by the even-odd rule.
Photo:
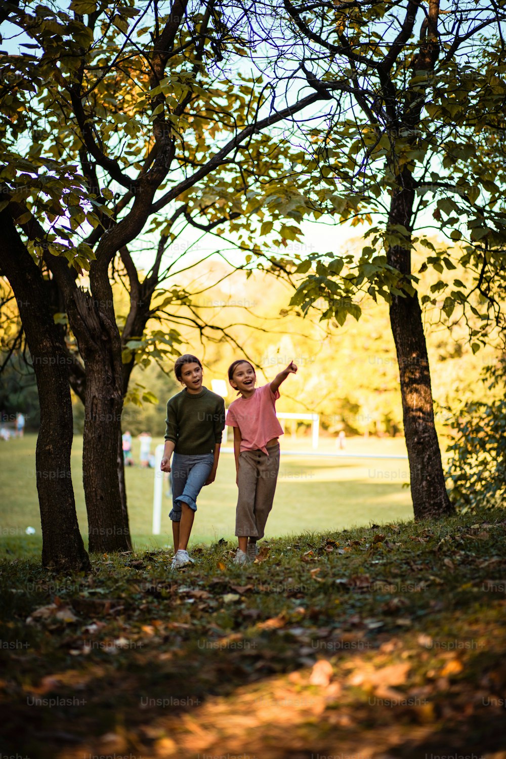
[[[241,451],[237,484],[239,496],[235,518],[235,534],[260,539],[272,509],[279,471],[279,443],[268,449],[269,455]]]

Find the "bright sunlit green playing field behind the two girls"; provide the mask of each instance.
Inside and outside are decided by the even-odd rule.
[[[153,439],[152,450],[162,438]],[[86,536],[86,508],[81,474],[82,437],[74,437],[72,476],[77,518]],[[230,447],[224,443],[224,447]],[[0,441],[0,553],[30,555],[39,553],[41,531],[35,471],[36,435]],[[274,507],[269,516],[266,537],[282,537],[308,532],[325,532],[351,526],[399,521],[413,517],[407,459],[316,458],[307,455],[309,439],[281,439],[281,468]],[[134,441],[134,459],[139,442]],[[284,455],[283,450],[300,451]],[[322,439],[320,452],[338,452],[333,439]],[[371,456],[406,455],[404,439],[383,438],[347,440],[340,453]],[[138,466],[127,468],[127,502],[130,530],[136,548],[171,545],[168,512],[170,497],[164,484],[162,534],[151,534],[152,500],[155,472]],[[234,457],[222,452],[218,476],[204,488],[193,528],[192,543],[211,543],[234,535],[235,505]],[[36,534],[25,534],[26,528]],[[170,537],[169,537],[170,536]]]

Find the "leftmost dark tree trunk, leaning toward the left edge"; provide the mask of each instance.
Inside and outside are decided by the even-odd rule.
[[[74,427],[64,346],[46,305],[42,276],[7,209],[0,213],[0,224],[0,266],[17,299],[39,390],[36,480],[42,565],[58,572],[87,572],[90,559],[77,524],[71,479]]]

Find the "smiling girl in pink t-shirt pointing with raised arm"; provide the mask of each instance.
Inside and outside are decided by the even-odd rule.
[[[235,564],[253,561],[256,541],[263,537],[272,509],[279,471],[279,441],[283,434],[275,411],[278,388],[289,374],[297,372],[291,361],[272,383],[255,387],[256,374],[249,361],[234,361],[228,368],[228,381],[240,398],[228,408],[227,421],[234,428],[234,454],[237,471],[237,512],[235,534],[239,548]]]

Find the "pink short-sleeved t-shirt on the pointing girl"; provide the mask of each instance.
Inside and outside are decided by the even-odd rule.
[[[241,451],[260,449],[269,455],[266,442],[283,434],[274,405],[278,398],[279,391],[274,394],[269,383],[257,387],[250,398],[237,398],[231,403],[226,424],[228,427],[239,427]]]

